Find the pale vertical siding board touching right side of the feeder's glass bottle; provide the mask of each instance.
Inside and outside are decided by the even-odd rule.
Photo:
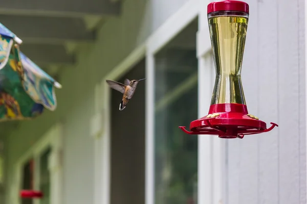
[[[250,114],[258,115],[258,63],[257,63],[257,1],[246,0],[250,6],[246,47],[242,66],[242,80]],[[239,203],[258,204],[258,137],[237,139],[240,143]],[[231,146],[231,142],[230,145]],[[231,158],[230,158],[231,160]],[[234,171],[234,169],[232,169]]]

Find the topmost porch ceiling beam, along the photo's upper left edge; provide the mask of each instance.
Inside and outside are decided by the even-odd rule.
[[[1,2],[0,13],[71,17],[117,16],[120,14],[120,8],[120,2],[109,0],[9,0]]]

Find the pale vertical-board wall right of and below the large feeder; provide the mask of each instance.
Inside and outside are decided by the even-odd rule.
[[[227,203],[306,203],[304,1],[246,2],[248,110],[279,127],[227,140]]]

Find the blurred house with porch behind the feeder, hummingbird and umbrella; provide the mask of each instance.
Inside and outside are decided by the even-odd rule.
[[[304,1],[244,0],[246,103],[279,127],[231,140],[178,128],[209,110],[210,2],[3,2],[0,22],[63,88],[54,112],[0,123],[0,203],[306,203]],[[147,79],[119,111],[105,79],[126,78]]]

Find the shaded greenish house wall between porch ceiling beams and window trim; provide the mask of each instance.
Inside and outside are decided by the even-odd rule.
[[[78,63],[63,68],[57,90],[58,108],[32,121],[21,122],[7,134],[7,195],[14,181],[16,160],[57,121],[64,128],[64,203],[94,202],[94,88],[103,76],[156,30],[188,0],[126,0],[119,18],[109,19],[93,45],[79,47]],[[81,193],[82,192],[82,193]],[[9,196],[7,203],[11,204]]]

